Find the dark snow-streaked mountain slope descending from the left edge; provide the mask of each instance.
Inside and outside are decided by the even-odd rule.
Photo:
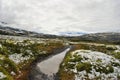
[[[1,35],[12,35],[12,36],[27,36],[27,37],[38,37],[38,38],[55,38],[55,35],[37,33],[33,31],[22,30],[18,28],[12,28],[5,22],[0,22],[0,34]]]

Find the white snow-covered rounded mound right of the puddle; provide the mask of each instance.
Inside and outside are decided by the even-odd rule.
[[[71,53],[71,59],[75,59],[74,55],[81,56],[78,63],[89,63],[91,65],[90,72],[86,70],[77,71],[77,68],[71,69],[75,73],[75,80],[118,80],[120,77],[120,61],[114,57],[102,52],[91,50],[76,50]],[[69,62],[69,64],[74,64]]]

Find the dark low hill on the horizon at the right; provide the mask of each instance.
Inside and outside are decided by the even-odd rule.
[[[92,33],[70,38],[73,41],[110,42],[120,44],[119,32]]]

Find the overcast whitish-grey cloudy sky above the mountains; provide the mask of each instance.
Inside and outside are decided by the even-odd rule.
[[[47,34],[120,31],[120,0],[0,0],[0,21]]]

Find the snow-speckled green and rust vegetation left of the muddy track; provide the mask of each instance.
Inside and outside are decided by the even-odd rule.
[[[62,48],[62,41],[55,40],[0,40],[0,72],[3,80],[27,80],[31,63],[41,55],[49,55],[56,48]]]

